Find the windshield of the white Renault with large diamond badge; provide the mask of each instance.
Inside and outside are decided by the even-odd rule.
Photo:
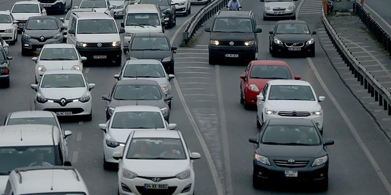
[[[85,87],[81,74],[45,74],[42,78],[42,88],[73,88]]]

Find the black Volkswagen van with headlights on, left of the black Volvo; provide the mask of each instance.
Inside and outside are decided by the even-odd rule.
[[[258,53],[258,36],[252,11],[219,11],[210,32],[209,64],[221,59],[255,60]]]

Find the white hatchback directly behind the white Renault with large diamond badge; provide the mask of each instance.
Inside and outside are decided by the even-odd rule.
[[[33,57],[35,62],[35,83],[41,80],[46,70],[71,69],[83,72],[83,61],[79,51],[73,44],[54,43],[45,44],[38,57]]]

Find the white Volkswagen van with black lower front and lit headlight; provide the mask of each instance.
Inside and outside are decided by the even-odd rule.
[[[94,8],[95,9],[95,8]],[[120,33],[113,17],[106,13],[72,13],[66,43],[74,44],[81,56],[88,60],[108,60],[121,65],[122,49]]]

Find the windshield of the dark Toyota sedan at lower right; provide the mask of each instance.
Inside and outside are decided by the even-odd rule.
[[[320,145],[321,139],[314,126],[271,125],[262,135],[261,143],[270,145]]]

